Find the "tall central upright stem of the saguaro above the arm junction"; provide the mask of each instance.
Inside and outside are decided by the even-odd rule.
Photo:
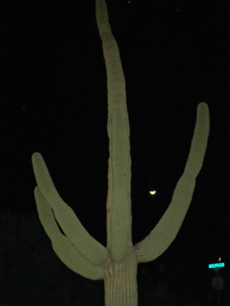
[[[112,34],[105,0],[96,0],[96,20],[107,70],[109,171],[107,248],[119,261],[132,245],[130,128],[125,78],[118,45]]]

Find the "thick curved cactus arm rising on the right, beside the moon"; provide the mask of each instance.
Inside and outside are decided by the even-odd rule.
[[[160,256],[176,238],[192,200],[195,180],[201,170],[209,132],[208,106],[201,102],[197,122],[183,175],[178,180],[167,211],[144,240],[135,245],[139,262],[152,261]]]

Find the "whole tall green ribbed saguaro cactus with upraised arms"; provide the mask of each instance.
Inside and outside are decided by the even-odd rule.
[[[151,261],[167,250],[185,218],[195,179],[206,151],[208,106],[201,102],[190,154],[167,211],[148,236],[132,245],[131,158],[125,79],[118,46],[109,26],[105,0],[96,0],[96,19],[107,69],[109,171],[107,193],[107,246],[93,239],[72,209],[61,199],[43,157],[34,153],[38,186],[38,215],[52,247],[68,268],[91,280],[105,281],[106,306],[137,305],[137,264]],[[63,233],[59,230],[59,226]]]

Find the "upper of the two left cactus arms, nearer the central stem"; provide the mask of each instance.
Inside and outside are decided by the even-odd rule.
[[[38,152],[34,153],[32,162],[40,192],[54,211],[56,221],[59,223],[63,232],[70,242],[77,247],[82,257],[85,257],[92,264],[102,264],[107,259],[108,254],[106,248],[85,230],[74,211],[63,202],[54,187],[43,156]]]

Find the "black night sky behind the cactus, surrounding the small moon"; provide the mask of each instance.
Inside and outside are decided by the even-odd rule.
[[[229,271],[227,2],[107,1],[127,88],[134,243],[171,201],[197,104],[210,109],[208,149],[192,204],[158,259],[187,265],[194,277],[209,273],[219,256]],[[1,1],[0,11],[0,214],[36,211],[31,155],[40,152],[63,200],[105,244],[107,85],[95,3]]]

